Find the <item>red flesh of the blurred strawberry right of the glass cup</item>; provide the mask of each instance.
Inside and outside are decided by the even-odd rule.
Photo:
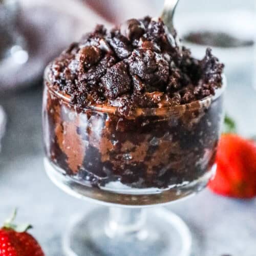
[[[217,172],[208,187],[236,198],[256,196],[256,144],[238,135],[224,134],[217,151]]]

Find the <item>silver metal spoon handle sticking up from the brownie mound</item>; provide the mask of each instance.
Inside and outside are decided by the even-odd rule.
[[[169,32],[175,36],[175,29],[173,24],[173,17],[175,13],[176,6],[178,4],[179,0],[165,0],[164,1],[164,7],[163,12],[161,15],[161,18],[164,22],[164,24],[167,26]]]

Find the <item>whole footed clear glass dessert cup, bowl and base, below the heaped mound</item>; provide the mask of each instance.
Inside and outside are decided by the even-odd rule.
[[[223,91],[171,108],[79,109],[45,76],[45,168],[61,189],[110,206],[75,218],[63,238],[67,255],[190,254],[185,223],[163,205],[202,190],[214,171]]]

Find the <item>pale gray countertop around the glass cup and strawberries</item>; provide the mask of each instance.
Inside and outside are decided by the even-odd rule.
[[[238,85],[228,89],[227,109],[240,117],[240,122],[248,119],[256,132],[255,113],[252,113],[256,92],[249,86],[243,88],[245,90],[240,90]],[[93,205],[66,195],[45,174],[41,93],[38,86],[14,95],[0,96],[8,115],[0,155],[0,220],[17,206],[18,220],[30,221],[34,225],[32,233],[44,247],[46,255],[59,256],[62,255],[61,234],[70,218]],[[244,128],[242,132],[246,131]],[[252,131],[251,126],[248,131]],[[205,189],[196,197],[168,208],[181,216],[193,232],[196,256],[256,255],[256,200],[224,198]]]

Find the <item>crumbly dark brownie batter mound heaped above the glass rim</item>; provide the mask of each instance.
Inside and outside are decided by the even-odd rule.
[[[210,49],[202,60],[176,44],[162,20],[130,19],[110,31],[98,25],[50,65],[50,83],[84,108],[180,105],[214,95],[222,85],[223,64]]]

